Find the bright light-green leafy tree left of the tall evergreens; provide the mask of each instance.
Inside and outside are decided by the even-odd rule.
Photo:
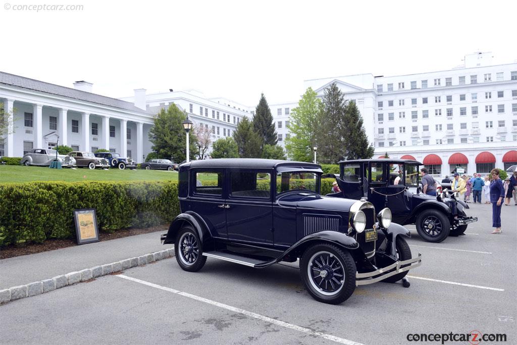
[[[311,87],[298,102],[298,107],[291,110],[287,128],[291,137],[285,139],[287,155],[296,161],[312,162],[312,145],[315,143],[315,125],[320,111],[321,99],[316,98]]]

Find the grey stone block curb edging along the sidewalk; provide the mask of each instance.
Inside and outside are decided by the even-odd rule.
[[[92,268],[83,269],[79,272],[70,272],[64,275],[55,276],[51,279],[35,281],[25,285],[0,290],[0,304],[5,304],[20,298],[36,296],[45,292],[77,284],[82,281],[120,272],[127,268],[145,265],[153,261],[163,260],[173,256],[174,248],[169,248],[145,254],[140,257],[112,262],[111,264],[94,266]]]

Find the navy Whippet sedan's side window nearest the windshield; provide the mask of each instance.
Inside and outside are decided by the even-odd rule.
[[[257,171],[230,173],[231,198],[270,198],[271,174]]]

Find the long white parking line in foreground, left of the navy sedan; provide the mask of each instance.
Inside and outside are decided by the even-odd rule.
[[[297,326],[297,325],[293,325],[292,323],[287,323],[287,322],[283,322],[283,321],[280,321],[280,320],[272,319],[272,318],[269,318],[267,316],[263,316],[261,314],[257,314],[257,313],[254,313],[254,312],[251,312],[251,311],[248,311],[248,310],[244,310],[244,309],[240,309],[240,308],[229,306],[227,304],[222,304],[222,303],[219,303],[219,302],[211,301],[210,299],[207,299],[207,298],[203,298],[203,297],[199,297],[199,296],[196,296],[196,295],[192,295],[192,294],[187,293],[187,292],[181,292],[181,291],[174,290],[174,289],[171,289],[171,288],[163,287],[163,286],[160,286],[160,285],[157,285],[157,284],[150,283],[150,282],[145,281],[145,280],[140,280],[140,279],[128,277],[128,276],[125,276],[123,274],[115,275],[115,277],[120,277],[120,278],[123,278],[123,279],[131,280],[131,281],[134,281],[134,282],[137,282],[137,283],[140,283],[140,284],[147,285],[149,287],[153,287],[153,288],[156,288],[156,289],[172,292],[172,293],[184,296],[184,297],[192,298],[192,299],[195,299],[196,301],[208,303],[208,304],[211,304],[213,306],[216,306],[216,307],[219,307],[219,308],[223,308],[223,309],[226,309],[226,310],[230,310],[230,311],[233,311],[233,312],[236,312],[236,313],[239,313],[239,314],[243,314],[243,315],[246,315],[246,316],[248,316],[250,318],[254,318],[254,319],[262,320],[262,321],[265,321],[265,322],[269,322],[269,323],[275,324],[277,326],[282,326],[282,327],[285,327],[285,328],[294,329],[294,331],[306,333],[306,334],[311,335],[311,336],[320,337],[320,338],[331,340],[331,341],[334,341],[334,342],[339,342],[341,344],[362,345],[359,342],[355,342],[355,341],[344,339],[344,338],[335,337],[333,335],[322,333],[322,332],[312,331],[312,329],[309,329],[309,328],[304,328],[304,327],[300,327],[300,326]]]

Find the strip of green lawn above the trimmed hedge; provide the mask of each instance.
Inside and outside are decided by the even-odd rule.
[[[50,169],[49,167],[0,166],[0,183],[33,181],[169,181],[178,180],[175,171],[163,170],[89,170],[85,168]]]

